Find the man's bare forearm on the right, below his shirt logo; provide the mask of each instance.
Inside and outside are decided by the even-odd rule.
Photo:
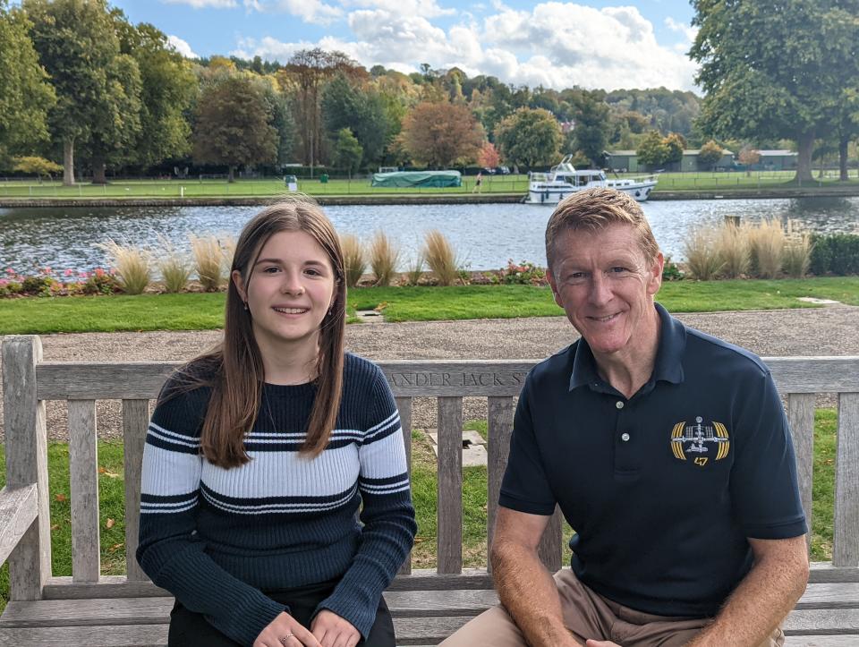
[[[797,539],[804,550],[804,538]],[[770,555],[756,561],[712,624],[687,647],[760,645],[794,608],[807,580],[804,554]]]

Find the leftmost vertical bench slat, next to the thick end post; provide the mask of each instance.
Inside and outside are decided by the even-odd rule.
[[[98,438],[96,401],[69,400],[69,473],[72,485],[72,577],[98,582]]]

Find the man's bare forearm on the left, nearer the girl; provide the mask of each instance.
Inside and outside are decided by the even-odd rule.
[[[508,542],[492,547],[492,574],[498,598],[532,647],[579,645],[564,625],[552,575],[536,551]]]

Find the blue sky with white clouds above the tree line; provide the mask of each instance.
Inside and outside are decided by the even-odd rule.
[[[400,72],[456,66],[515,85],[695,89],[688,0],[112,0],[190,57],[285,63],[312,47]]]

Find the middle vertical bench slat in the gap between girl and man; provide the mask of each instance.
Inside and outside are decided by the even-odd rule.
[[[438,398],[438,573],[463,569],[463,398]]]

